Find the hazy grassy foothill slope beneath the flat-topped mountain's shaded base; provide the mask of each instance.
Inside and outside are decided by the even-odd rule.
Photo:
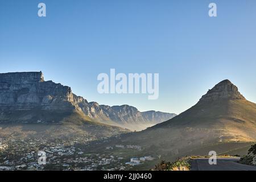
[[[40,114],[47,118],[50,114],[55,114],[58,122],[50,123],[0,123],[0,137],[35,137],[35,138],[66,138],[66,137],[91,137],[93,139],[110,137],[112,135],[126,133],[127,130],[120,127],[105,125],[94,122],[85,114],[79,111],[68,113],[51,113],[51,111],[41,111]],[[27,115],[26,112],[20,113]],[[15,115],[17,117],[17,115]],[[51,116],[51,118],[53,118]]]

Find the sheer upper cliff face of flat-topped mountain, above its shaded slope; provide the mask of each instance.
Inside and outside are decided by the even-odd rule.
[[[73,102],[71,88],[44,81],[42,72],[0,74],[1,109],[75,109]]]

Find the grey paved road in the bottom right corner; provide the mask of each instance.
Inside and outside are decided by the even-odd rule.
[[[191,171],[256,171],[256,166],[240,164],[238,158],[220,158],[216,165],[210,165],[209,159],[193,159]]]

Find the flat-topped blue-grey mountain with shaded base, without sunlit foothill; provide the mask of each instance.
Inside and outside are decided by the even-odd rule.
[[[42,72],[0,74],[0,122],[60,122],[81,113],[79,101],[68,86],[44,81]]]

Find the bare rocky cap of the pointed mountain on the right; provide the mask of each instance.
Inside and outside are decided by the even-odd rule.
[[[231,81],[223,80],[210,89],[200,101],[214,101],[221,99],[245,100],[245,97],[238,92],[237,86],[232,84]]]

